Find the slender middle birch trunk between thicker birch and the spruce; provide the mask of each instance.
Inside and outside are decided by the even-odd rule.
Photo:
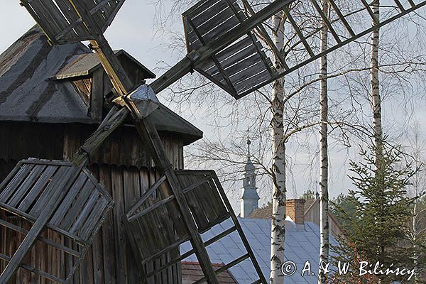
[[[327,15],[328,0],[322,0],[322,11]],[[328,28],[325,23],[321,30],[321,51],[327,50]],[[328,90],[327,55],[320,58],[320,263],[329,261],[329,195],[328,195]],[[320,267],[323,267],[320,265]],[[320,270],[318,283],[327,283],[327,275]]]

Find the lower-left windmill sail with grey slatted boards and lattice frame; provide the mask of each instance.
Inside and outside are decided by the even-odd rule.
[[[13,256],[0,252],[0,258],[9,263],[1,280],[10,278],[15,266],[20,266],[49,280],[68,283],[114,204],[89,170],[58,160],[21,161],[1,182],[0,192],[0,209],[31,226],[28,230],[18,226],[22,223],[0,219],[0,226],[26,235]],[[51,231],[56,237],[49,239],[42,231]],[[68,259],[67,278],[43,271],[36,263],[22,263],[35,240]]]

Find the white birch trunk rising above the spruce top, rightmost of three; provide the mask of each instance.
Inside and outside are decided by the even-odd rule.
[[[371,9],[378,19],[379,14],[379,0],[374,0],[371,3]],[[373,21],[374,25],[374,21]],[[378,88],[378,43],[379,43],[379,29],[373,31],[371,35],[371,73],[370,73],[370,88],[371,88],[371,104],[373,106],[373,138],[374,147],[376,151],[376,168],[380,168],[379,161],[383,155],[383,130],[381,121],[381,97]]]

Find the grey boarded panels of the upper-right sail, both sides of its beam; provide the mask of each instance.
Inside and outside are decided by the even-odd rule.
[[[185,12],[183,17],[189,52],[207,45],[246,20],[238,4],[230,0],[205,1]],[[195,65],[195,70],[239,97],[244,90],[270,80],[276,73],[262,49],[256,36],[249,32],[243,40],[219,50],[201,65]]]

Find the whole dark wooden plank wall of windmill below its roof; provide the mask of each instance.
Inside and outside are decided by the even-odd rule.
[[[0,137],[0,180],[22,158],[69,160],[93,127],[0,121],[0,132],[4,134]],[[182,138],[173,133],[162,133],[161,136],[173,167],[182,169]],[[141,197],[143,191],[160,177],[159,173],[152,167],[151,158],[144,151],[140,138],[132,127],[116,131],[104,143],[89,168],[114,198],[115,207],[109,212],[72,283],[140,283],[141,275],[136,267],[136,259],[131,254],[132,249],[126,239],[121,218]],[[8,217],[9,221],[16,222],[13,218]],[[52,237],[53,234],[45,232],[45,236]],[[9,229],[0,232],[2,251],[15,251],[21,241],[22,236]],[[50,273],[65,276],[67,272],[67,263],[61,258],[61,254],[54,254],[42,243],[38,243],[28,257],[38,259],[40,265]],[[147,271],[159,263],[160,261],[153,261],[148,265]],[[1,261],[0,269],[4,269],[5,265]],[[180,283],[180,278],[179,264],[154,276],[150,283]],[[51,282],[20,269],[12,283]]]

